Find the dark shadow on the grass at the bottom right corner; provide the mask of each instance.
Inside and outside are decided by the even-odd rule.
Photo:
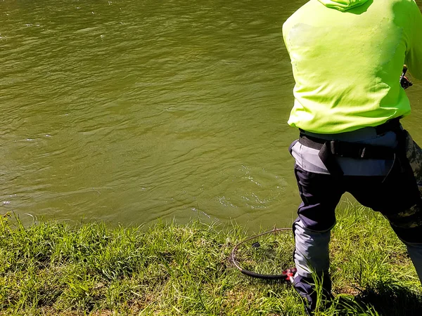
[[[359,307],[358,307],[359,306]],[[377,281],[368,285],[354,298],[339,297],[335,309],[338,315],[420,316],[422,315],[422,293],[395,281]]]

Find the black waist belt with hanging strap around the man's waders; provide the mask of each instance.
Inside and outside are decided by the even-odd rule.
[[[335,157],[354,159],[395,159],[396,150],[391,147],[350,143],[341,140],[323,140],[301,133],[299,143],[319,150],[319,158],[333,176],[343,176],[343,170]]]

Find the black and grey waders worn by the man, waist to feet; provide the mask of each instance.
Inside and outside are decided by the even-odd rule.
[[[345,192],[389,220],[422,282],[422,150],[399,119],[348,133],[300,131],[289,150],[302,199],[293,223],[294,285],[308,311],[316,304],[312,272],[331,296],[328,243]]]

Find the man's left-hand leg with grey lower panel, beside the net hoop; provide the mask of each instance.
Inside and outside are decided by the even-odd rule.
[[[311,173],[295,166],[295,176],[302,204],[293,223],[294,259],[298,269],[294,287],[312,311],[317,299],[313,275],[322,282],[323,294],[331,294],[328,243],[335,225],[335,206],[344,191],[340,181],[331,175]]]

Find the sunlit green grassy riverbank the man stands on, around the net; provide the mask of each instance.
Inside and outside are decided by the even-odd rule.
[[[0,224],[0,315],[304,315],[290,284],[231,265],[239,225]],[[382,216],[338,216],[331,257],[336,299],[319,315],[420,315],[416,272]]]

